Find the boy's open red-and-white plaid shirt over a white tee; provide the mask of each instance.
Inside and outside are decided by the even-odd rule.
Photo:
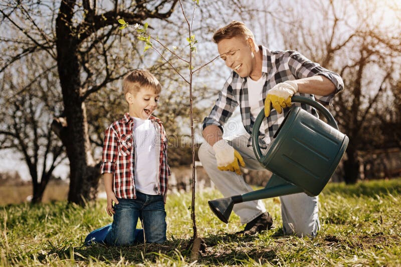
[[[156,143],[156,149],[160,149],[157,193],[164,195],[167,192],[168,175],[171,175],[167,164],[167,138],[160,119],[154,116],[150,116],[149,119],[160,134],[160,142]],[[123,118],[115,121],[105,130],[100,170],[102,174],[113,173],[113,189],[119,198],[136,198],[134,171],[136,154],[133,129],[134,120],[129,113],[125,113]]]

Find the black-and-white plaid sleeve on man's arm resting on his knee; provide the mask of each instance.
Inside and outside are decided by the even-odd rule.
[[[219,92],[219,97],[212,108],[209,116],[205,117],[202,128],[205,129],[208,125],[217,125],[224,132],[223,126],[233,114],[238,106],[238,100],[233,93],[231,85],[232,76],[226,81],[223,89]]]

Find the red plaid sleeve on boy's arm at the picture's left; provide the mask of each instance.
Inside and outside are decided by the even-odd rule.
[[[100,173],[113,173],[114,164],[118,156],[117,135],[115,130],[110,126],[104,131],[104,142],[102,152],[102,164]]]

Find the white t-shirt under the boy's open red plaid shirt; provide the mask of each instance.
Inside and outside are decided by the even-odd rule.
[[[157,194],[156,136],[150,119],[134,117],[135,188],[145,194]]]

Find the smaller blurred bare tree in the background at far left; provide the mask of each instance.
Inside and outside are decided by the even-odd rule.
[[[21,152],[33,184],[33,203],[41,202],[54,169],[65,158],[64,146],[52,132],[54,108],[60,107],[56,65],[46,56],[29,56],[4,73],[0,105],[0,149]],[[35,68],[29,66],[35,65]]]

